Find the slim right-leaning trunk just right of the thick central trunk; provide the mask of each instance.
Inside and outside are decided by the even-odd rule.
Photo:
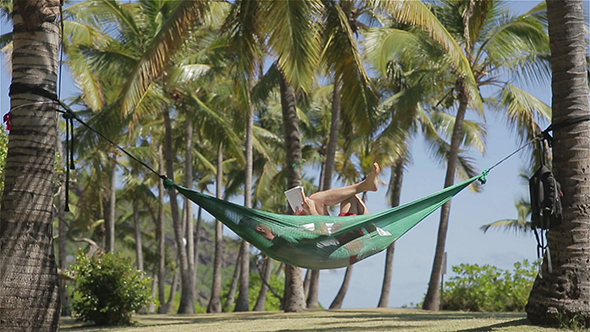
[[[326,161],[324,162],[320,190],[328,190],[332,188],[336,150],[338,149],[338,137],[340,137],[340,114],[342,113],[341,91],[341,82],[334,82],[334,92],[332,95],[332,124],[330,126],[330,137],[326,149]],[[320,271],[312,270],[309,282],[309,294],[307,295],[308,308],[318,308],[320,306],[318,302],[319,294]]]

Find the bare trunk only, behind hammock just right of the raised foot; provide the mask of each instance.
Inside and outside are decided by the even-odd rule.
[[[402,182],[404,177],[405,158],[401,156],[391,170],[391,179],[389,180],[391,190],[391,207],[399,206],[402,194]],[[389,308],[389,296],[391,293],[391,277],[393,275],[393,254],[395,252],[395,242],[387,247],[385,255],[385,268],[383,272],[383,286],[381,287],[381,296],[379,297],[379,308]]]

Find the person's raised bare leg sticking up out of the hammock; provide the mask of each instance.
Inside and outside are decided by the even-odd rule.
[[[328,214],[328,206],[338,205],[365,191],[376,191],[379,187],[378,175],[380,172],[379,164],[374,163],[373,170],[363,181],[350,186],[320,191],[312,194],[309,198],[313,201],[319,214]]]

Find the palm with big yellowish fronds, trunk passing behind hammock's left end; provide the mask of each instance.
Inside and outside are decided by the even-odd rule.
[[[170,5],[171,4],[171,5]],[[170,111],[167,101],[160,99],[161,96],[153,96],[154,83],[163,84],[166,82],[167,75],[161,75],[166,70],[168,72],[173,69],[171,59],[176,50],[182,45],[185,37],[188,36],[189,31],[196,26],[204,23],[207,16],[206,13],[210,8],[216,7],[216,4],[211,4],[206,1],[187,1],[187,2],[170,2],[168,4],[160,2],[142,2],[139,5],[139,11],[132,11],[136,4],[129,4],[127,6],[112,6],[113,4],[104,3],[101,6],[99,1],[94,6],[90,6],[86,11],[78,11],[79,15],[92,15],[100,10],[107,10],[109,15],[107,18],[112,18],[115,23],[121,27],[122,34],[125,35],[126,40],[133,42],[130,45],[121,45],[122,48],[132,49],[132,56],[125,59],[126,63],[131,63],[133,68],[126,72],[128,79],[119,89],[120,94],[116,106],[124,118],[132,116],[135,125],[137,120],[150,110],[159,109],[163,113],[164,119],[169,118],[167,112]],[[111,8],[112,7],[112,8]],[[127,9],[128,7],[128,9]],[[144,15],[147,19],[138,18],[133,19],[135,13]],[[100,15],[104,15],[103,12]],[[155,16],[161,15],[164,20],[156,19]],[[146,24],[149,23],[149,24]],[[143,36],[146,32],[151,36],[146,40]],[[138,40],[137,36],[142,37]],[[135,49],[133,49],[135,47]],[[159,80],[159,82],[156,81]],[[156,89],[157,90],[157,89]],[[165,90],[165,89],[164,89]],[[155,97],[155,98],[154,98]],[[173,161],[172,155],[172,139],[170,130],[172,123],[165,121],[166,128],[166,167],[167,176],[173,176]],[[182,243],[184,234],[183,227],[180,224],[180,216],[178,203],[174,199],[175,193],[171,193],[171,213],[175,230],[175,237],[177,243]],[[192,237],[191,237],[192,239]],[[191,253],[194,250],[190,250]],[[189,254],[185,248],[179,246],[177,248],[178,259],[180,263],[181,276],[181,305],[179,312],[194,312],[194,287],[191,286],[191,280],[194,276],[191,272],[194,269],[189,264]]]

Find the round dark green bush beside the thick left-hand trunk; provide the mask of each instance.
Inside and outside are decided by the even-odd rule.
[[[78,254],[74,315],[96,325],[130,325],[131,315],[151,301],[151,278],[143,278],[130,261],[107,253],[95,257]]]

